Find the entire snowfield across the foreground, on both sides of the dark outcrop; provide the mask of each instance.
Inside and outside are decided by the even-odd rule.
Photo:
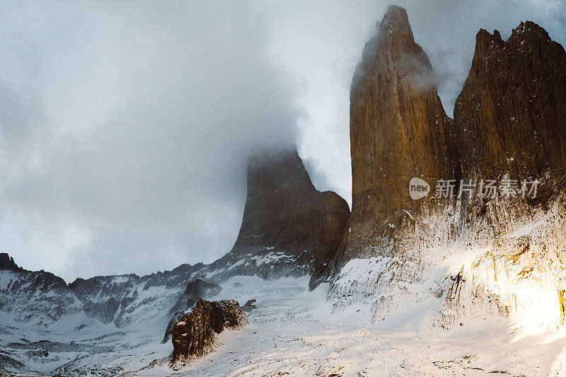
[[[222,332],[216,352],[180,371],[168,367],[173,347],[161,344],[158,322],[69,331],[57,321],[33,336],[8,329],[1,344],[18,341],[18,332],[30,342],[81,344],[71,352],[48,345],[50,356],[25,363],[56,376],[566,376],[566,330],[529,335],[504,318],[443,330],[432,326],[434,305],[371,324],[371,306],[333,310],[328,285],[308,291],[308,277],[233,277],[221,286],[212,300],[257,300],[250,325]]]

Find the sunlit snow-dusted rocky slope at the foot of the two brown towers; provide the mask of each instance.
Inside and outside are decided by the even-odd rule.
[[[457,221],[464,209],[456,203],[452,212],[421,217],[397,233],[400,250],[350,260],[329,299],[335,308],[368,303],[376,321],[434,303],[441,327],[498,315],[525,328],[558,327],[565,316],[565,203],[560,196],[536,209],[497,200],[483,221],[469,222]],[[456,229],[454,240],[431,237],[441,233],[438,224]]]

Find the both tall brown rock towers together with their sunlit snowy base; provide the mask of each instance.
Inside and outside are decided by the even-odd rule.
[[[521,23],[507,41],[480,30],[453,121],[405,9],[391,6],[352,80],[350,141],[350,231],[325,272],[337,306],[366,301],[381,320],[444,297],[443,325],[487,313],[560,322],[566,54],[543,28]],[[411,178],[433,191],[453,180],[454,196],[411,199]],[[536,181],[538,195],[463,191],[480,180]]]

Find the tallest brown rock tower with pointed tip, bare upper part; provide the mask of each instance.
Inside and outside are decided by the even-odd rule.
[[[413,177],[435,182],[458,175],[452,128],[405,9],[390,6],[352,80],[352,216],[340,257],[383,253],[378,240],[393,238],[393,226],[410,226],[438,206],[410,199],[408,184]]]

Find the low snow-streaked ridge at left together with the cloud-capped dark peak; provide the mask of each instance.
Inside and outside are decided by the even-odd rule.
[[[190,309],[197,298],[218,294],[216,284],[230,277],[319,276],[335,255],[349,216],[344,199],[316,190],[296,150],[262,153],[250,159],[236,243],[219,260],[142,277],[76,279],[67,285],[50,272],[18,267],[4,253],[0,310],[15,322],[45,326],[64,315],[74,315],[75,327],[89,320],[125,327],[158,318],[165,331],[175,313]]]

